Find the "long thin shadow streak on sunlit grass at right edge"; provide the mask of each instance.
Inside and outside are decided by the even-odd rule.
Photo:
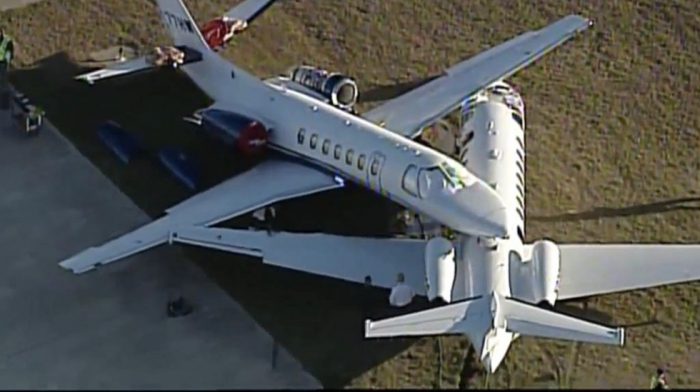
[[[694,203],[697,205],[688,205]],[[619,218],[647,214],[660,214],[671,211],[700,211],[700,197],[684,197],[622,208],[599,207],[591,211],[552,216],[533,216],[529,219],[538,222],[573,222],[601,218]]]

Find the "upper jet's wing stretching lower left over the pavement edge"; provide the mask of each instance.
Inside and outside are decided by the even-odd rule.
[[[168,241],[180,226],[208,226],[282,200],[341,187],[332,175],[287,160],[268,160],[166,211],[166,215],[64,260],[79,274]]]

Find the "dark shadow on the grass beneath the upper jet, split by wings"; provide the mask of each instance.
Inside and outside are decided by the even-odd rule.
[[[186,78],[155,72],[99,86],[73,79],[87,70],[65,53],[57,53],[32,68],[13,71],[10,81],[42,106],[63,135],[152,218],[191,193],[152,159],[120,164],[97,138],[103,122],[117,121],[137,134],[149,151],[167,145],[184,148],[202,164],[207,185],[250,166],[182,121],[210,104]],[[278,227],[385,235],[393,205],[365,190],[348,188],[283,203]],[[227,225],[244,227],[247,222],[236,219]],[[388,293],[383,290],[264,266],[249,257],[183,250],[326,388],[348,385],[415,341],[363,338],[365,317],[381,318],[387,310]]]

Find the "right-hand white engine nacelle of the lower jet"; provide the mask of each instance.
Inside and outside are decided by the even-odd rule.
[[[530,272],[533,297],[537,304],[554,306],[559,295],[561,258],[559,247],[552,241],[537,241],[532,247]]]

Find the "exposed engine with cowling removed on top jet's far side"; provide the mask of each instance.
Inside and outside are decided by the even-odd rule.
[[[357,83],[349,76],[302,65],[289,71],[289,79],[320,93],[338,108],[350,110],[357,103]]]

